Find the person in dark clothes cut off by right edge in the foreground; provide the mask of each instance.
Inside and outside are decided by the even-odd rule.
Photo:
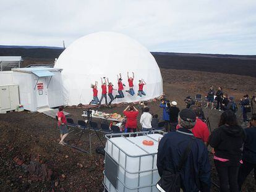
[[[256,182],[256,114],[252,114],[249,127],[244,129],[246,139],[242,151],[242,164],[238,173],[238,186],[241,191],[242,184],[246,177],[254,169],[254,179]]]

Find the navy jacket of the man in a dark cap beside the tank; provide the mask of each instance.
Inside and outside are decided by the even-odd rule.
[[[164,169],[177,171],[179,159],[187,148],[193,133],[186,128],[167,133],[160,140],[157,154],[158,173]],[[202,140],[195,138],[184,169],[181,170],[181,188],[184,192],[210,191],[210,162]]]

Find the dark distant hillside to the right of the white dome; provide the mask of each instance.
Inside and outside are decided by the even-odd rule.
[[[151,52],[151,54],[163,69],[187,69],[256,77],[256,56],[171,52]]]

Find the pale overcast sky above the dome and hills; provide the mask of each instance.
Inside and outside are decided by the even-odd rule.
[[[256,1],[0,0],[0,44],[68,46],[97,31],[150,51],[256,55]]]

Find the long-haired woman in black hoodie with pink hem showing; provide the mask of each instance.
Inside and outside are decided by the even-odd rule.
[[[237,175],[242,159],[244,130],[238,125],[236,114],[228,110],[221,114],[219,127],[209,136],[214,148],[214,163],[220,178],[220,191],[238,192]]]

